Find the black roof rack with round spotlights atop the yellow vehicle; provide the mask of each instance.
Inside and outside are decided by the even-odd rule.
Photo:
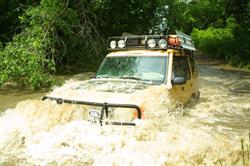
[[[166,49],[187,49],[195,51],[192,37],[176,31],[175,35],[131,35],[123,34],[108,38],[108,50],[166,50]]]

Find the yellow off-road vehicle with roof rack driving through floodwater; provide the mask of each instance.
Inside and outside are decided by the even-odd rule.
[[[157,104],[171,100],[185,105],[192,97],[199,98],[190,36],[178,31],[124,35],[111,37],[108,43],[110,53],[94,79],[64,85],[61,93],[59,88],[43,100],[83,105],[88,120],[101,125],[135,125],[136,119],[148,118],[147,111],[157,111]]]

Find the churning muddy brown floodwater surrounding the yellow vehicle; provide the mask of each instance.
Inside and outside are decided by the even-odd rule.
[[[250,165],[250,72],[198,68],[198,103],[136,127],[92,125],[75,106],[41,102],[45,92],[1,89],[0,165]]]

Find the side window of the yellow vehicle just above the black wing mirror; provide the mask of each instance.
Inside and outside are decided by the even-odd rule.
[[[175,77],[185,77],[187,80],[190,79],[190,71],[188,67],[187,57],[175,56],[173,59],[172,67],[172,80]]]

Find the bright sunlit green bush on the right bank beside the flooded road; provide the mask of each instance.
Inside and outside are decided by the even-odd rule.
[[[204,54],[222,59],[234,66],[249,68],[249,32],[239,26],[234,18],[227,19],[226,28],[194,28],[192,37],[198,49]]]

